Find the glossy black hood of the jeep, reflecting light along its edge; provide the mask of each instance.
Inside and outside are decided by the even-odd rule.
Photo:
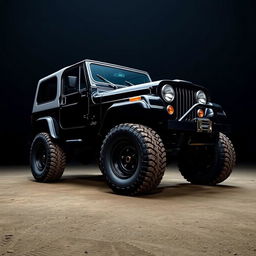
[[[106,92],[97,92],[95,93],[92,98],[95,103],[99,102],[106,102],[111,100],[118,100],[118,99],[124,99],[129,98],[137,95],[157,95],[159,93],[159,89],[164,84],[170,84],[174,87],[186,87],[186,88],[194,88],[197,90],[206,90],[204,87],[193,84],[192,82],[185,81],[185,80],[158,80],[158,81],[152,81],[144,84],[138,84],[138,85],[132,85],[127,86],[125,88],[120,89],[113,89]]]

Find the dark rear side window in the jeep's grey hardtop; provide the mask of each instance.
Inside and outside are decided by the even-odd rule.
[[[57,96],[57,77],[53,77],[43,81],[39,85],[37,94],[37,103],[43,104],[55,100]]]

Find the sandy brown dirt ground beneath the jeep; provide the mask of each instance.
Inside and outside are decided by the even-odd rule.
[[[0,255],[256,255],[256,170],[215,187],[188,184],[176,167],[156,193],[115,195],[94,167],[62,181],[0,169]]]

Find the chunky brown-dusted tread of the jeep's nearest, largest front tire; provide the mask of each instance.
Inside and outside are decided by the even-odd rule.
[[[128,129],[144,141],[141,171],[136,182],[128,187],[118,187],[106,175],[103,149],[116,131]],[[166,152],[160,136],[151,128],[140,124],[123,123],[110,130],[104,139],[100,152],[100,169],[113,191],[126,195],[144,194],[154,190],[162,180],[166,168]]]

